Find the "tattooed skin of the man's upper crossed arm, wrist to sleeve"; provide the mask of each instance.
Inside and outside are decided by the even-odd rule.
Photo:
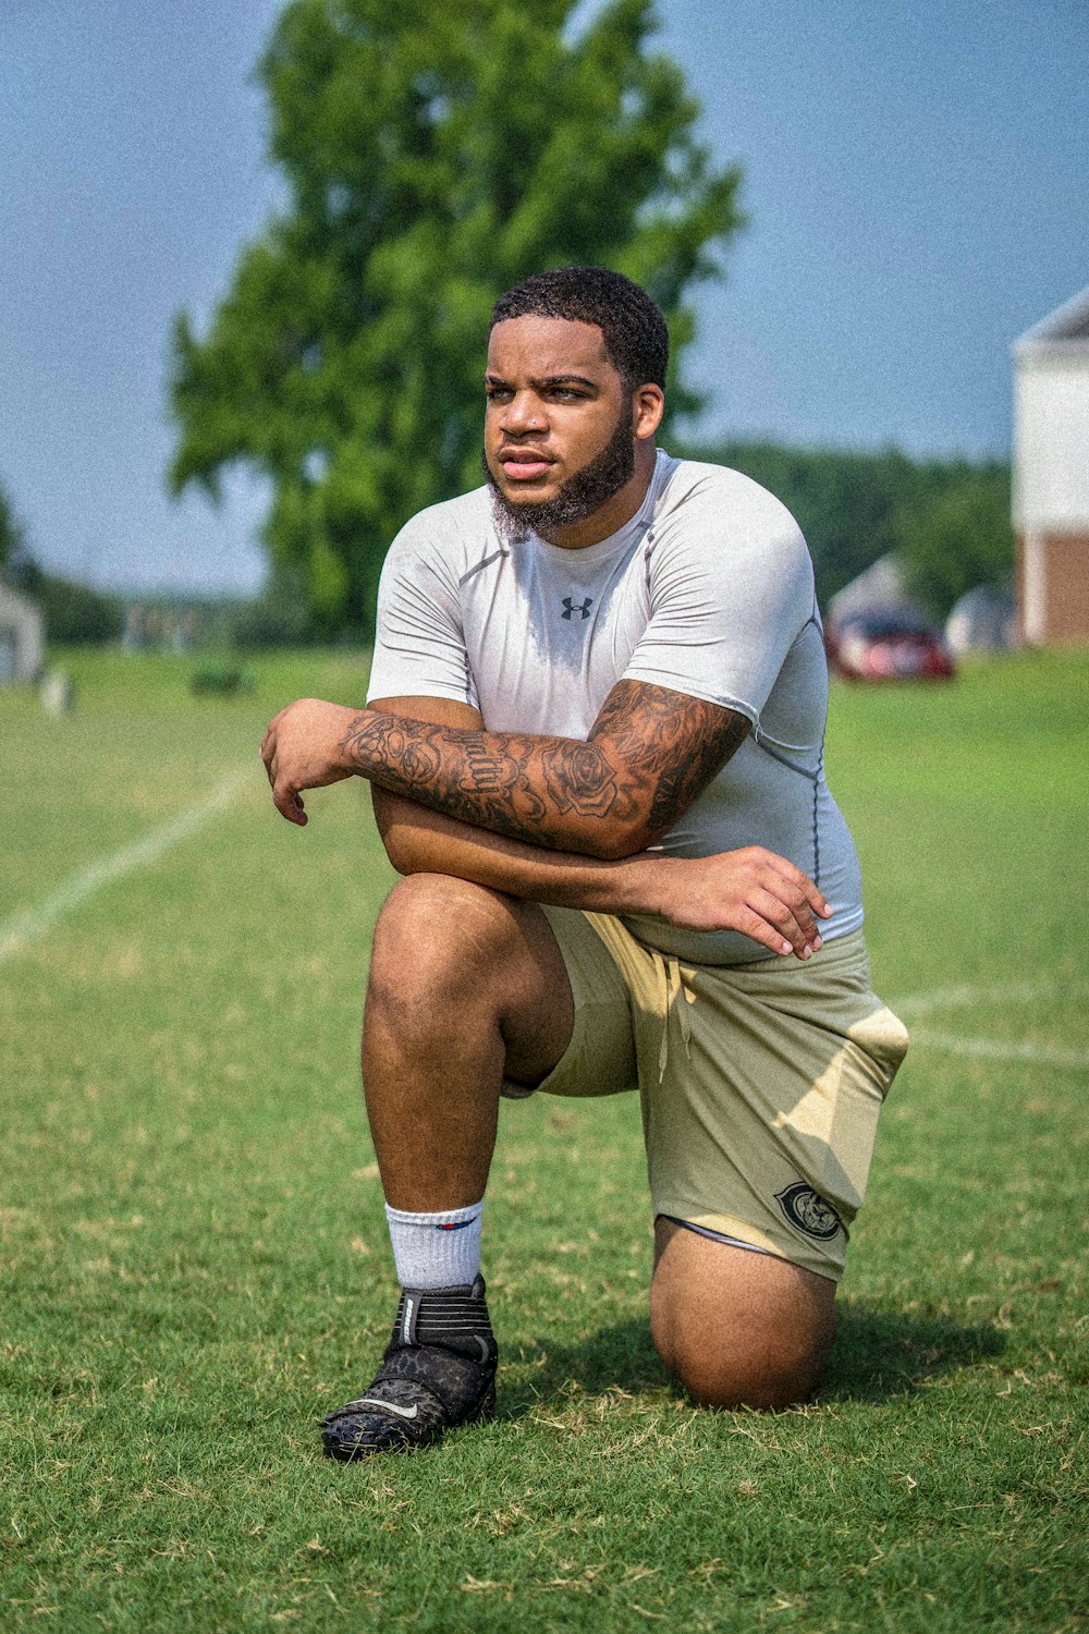
[[[586,742],[367,709],[341,748],[372,783],[462,822],[553,850],[630,856],[678,820],[748,729],[718,704],[619,681]]]

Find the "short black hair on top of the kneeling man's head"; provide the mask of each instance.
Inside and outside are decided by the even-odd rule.
[[[596,324],[609,363],[625,387],[653,381],[665,389],[669,333],[645,289],[607,266],[557,266],[514,284],[491,309],[491,328],[511,317],[565,317]]]

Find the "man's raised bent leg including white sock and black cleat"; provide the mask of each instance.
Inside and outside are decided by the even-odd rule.
[[[472,1271],[478,1250],[446,1257],[433,1245],[457,1229],[451,1214],[469,1219],[483,1198],[503,1077],[540,1082],[571,1026],[540,909],[444,874],[392,891],[374,933],[362,1072],[385,1198],[402,1211],[390,1219],[398,1261],[436,1275],[402,1289],[379,1373],[323,1420],[330,1456],[408,1451],[491,1410],[496,1346]],[[449,1266],[465,1278],[444,1278]]]

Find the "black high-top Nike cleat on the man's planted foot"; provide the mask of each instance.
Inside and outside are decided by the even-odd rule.
[[[491,1417],[498,1348],[483,1292],[482,1276],[472,1288],[402,1288],[372,1384],[322,1420],[327,1458],[415,1453]]]

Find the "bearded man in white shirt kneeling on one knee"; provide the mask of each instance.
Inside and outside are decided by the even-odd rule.
[[[493,1407],[501,1095],[638,1087],[651,1332],[697,1402],[784,1407],[828,1359],[906,1034],[823,776],[805,541],[754,482],[655,448],[666,358],[616,273],[503,296],[487,485],[395,539],[367,708],[302,699],[261,745],[296,824],[300,789],[367,778],[407,876],[362,1036],[402,1296],[376,1377],[323,1420],[333,1458]]]

